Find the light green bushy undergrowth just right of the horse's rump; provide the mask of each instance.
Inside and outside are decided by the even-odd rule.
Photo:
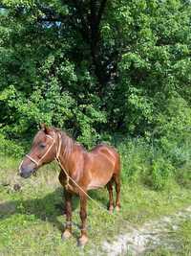
[[[173,156],[169,153],[167,157],[157,142],[152,145],[142,138],[123,140],[117,147],[121,156],[123,182],[143,184],[154,190],[168,188],[175,181],[183,186],[191,184],[190,158],[178,166]]]

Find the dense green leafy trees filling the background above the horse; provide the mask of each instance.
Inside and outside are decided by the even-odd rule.
[[[15,142],[46,122],[88,147],[118,133],[144,137],[165,155],[153,179],[186,162],[190,1],[1,3],[1,148],[18,152]]]

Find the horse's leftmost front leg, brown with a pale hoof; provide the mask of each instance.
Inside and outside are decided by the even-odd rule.
[[[72,194],[64,190],[65,209],[66,209],[66,228],[62,234],[62,239],[68,239],[72,236]]]

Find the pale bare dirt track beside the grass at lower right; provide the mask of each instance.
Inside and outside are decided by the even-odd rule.
[[[143,255],[146,251],[162,245],[166,248],[176,249],[177,243],[173,240],[174,233],[181,221],[191,219],[191,206],[170,216],[165,216],[159,221],[145,222],[141,227],[127,227],[128,232],[120,234],[111,244],[105,241],[102,244],[100,255]]]

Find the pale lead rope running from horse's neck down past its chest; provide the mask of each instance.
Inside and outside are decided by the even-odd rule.
[[[105,212],[107,212],[108,214],[108,210],[103,207],[102,205],[100,205],[95,199],[91,198],[75,181],[74,179],[67,173],[67,171],[65,170],[65,168],[63,167],[62,163],[59,160],[59,154],[60,154],[60,150],[61,150],[61,135],[58,133],[58,137],[59,137],[59,145],[58,145],[58,150],[56,149],[56,156],[55,156],[55,160],[57,161],[58,165],[61,167],[61,169],[64,171],[64,174],[67,177],[67,184],[66,184],[66,189],[68,189],[71,185],[69,184],[70,179],[73,181],[73,183],[75,184],[75,186],[80,189],[87,198],[90,198],[101,210],[104,210]]]

